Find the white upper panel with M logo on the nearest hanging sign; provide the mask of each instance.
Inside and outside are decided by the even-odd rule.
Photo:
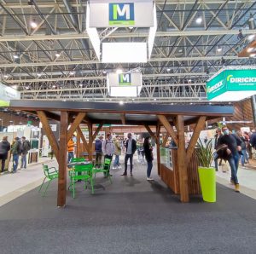
[[[90,0],[90,27],[154,26],[152,0]]]

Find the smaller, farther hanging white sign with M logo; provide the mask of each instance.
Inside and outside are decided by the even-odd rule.
[[[116,73],[107,76],[108,94],[115,97],[137,97],[143,87],[141,72]]]

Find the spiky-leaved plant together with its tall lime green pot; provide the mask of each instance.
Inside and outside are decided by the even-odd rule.
[[[216,175],[215,169],[211,166],[214,157],[212,141],[204,145],[199,139],[195,151],[199,163],[198,172],[203,200],[216,202]]]

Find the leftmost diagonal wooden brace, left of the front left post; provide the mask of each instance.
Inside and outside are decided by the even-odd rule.
[[[38,111],[37,113],[38,113],[38,118],[40,119],[40,122],[43,124],[45,134],[49,139],[49,144],[53,150],[53,153],[55,153],[55,158],[57,159],[57,161],[59,163],[59,150],[60,149],[59,149],[59,145],[58,145],[57,141],[55,140],[55,136],[54,136],[52,130],[50,129],[48,118],[46,117],[44,111]]]

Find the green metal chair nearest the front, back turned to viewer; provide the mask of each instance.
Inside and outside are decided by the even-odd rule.
[[[73,170],[69,171],[71,191],[73,192],[73,199],[75,198],[75,185],[78,181],[85,182],[84,189],[87,188],[87,183],[90,182],[91,193],[94,193],[94,182],[92,177],[92,164],[88,165],[75,165]]]

